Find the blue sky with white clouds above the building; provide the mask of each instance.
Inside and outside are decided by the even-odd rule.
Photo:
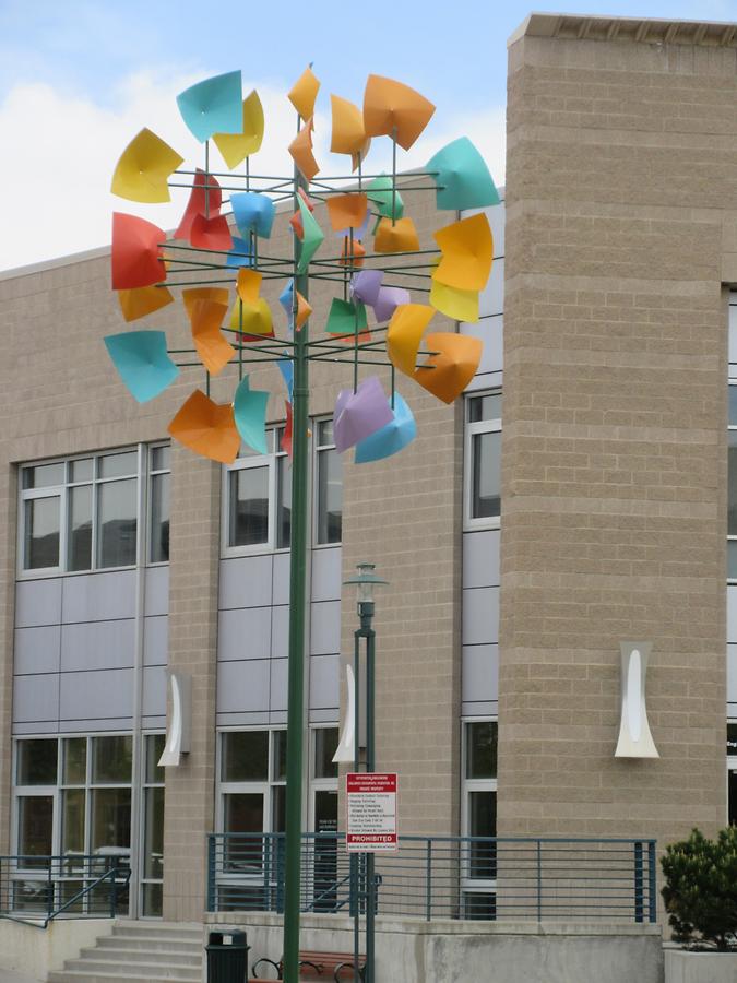
[[[143,127],[187,161],[202,147],[185,127],[176,95],[209,75],[241,69],[255,87],[266,133],[253,170],[290,171],[294,135],[286,92],[307,63],[322,82],[316,156],[323,174],[347,173],[329,153],[330,93],[360,105],[373,72],[405,82],[436,104],[426,132],[400,168],[424,164],[467,135],[504,182],[507,38],[531,10],[615,16],[737,21],[737,0],[373,0],[365,4],[233,4],[192,0],[0,0],[0,270],[109,244],[114,210],[163,228],[178,223],[186,191],[141,205],[109,192],[116,162]],[[371,169],[389,163],[376,140]]]

